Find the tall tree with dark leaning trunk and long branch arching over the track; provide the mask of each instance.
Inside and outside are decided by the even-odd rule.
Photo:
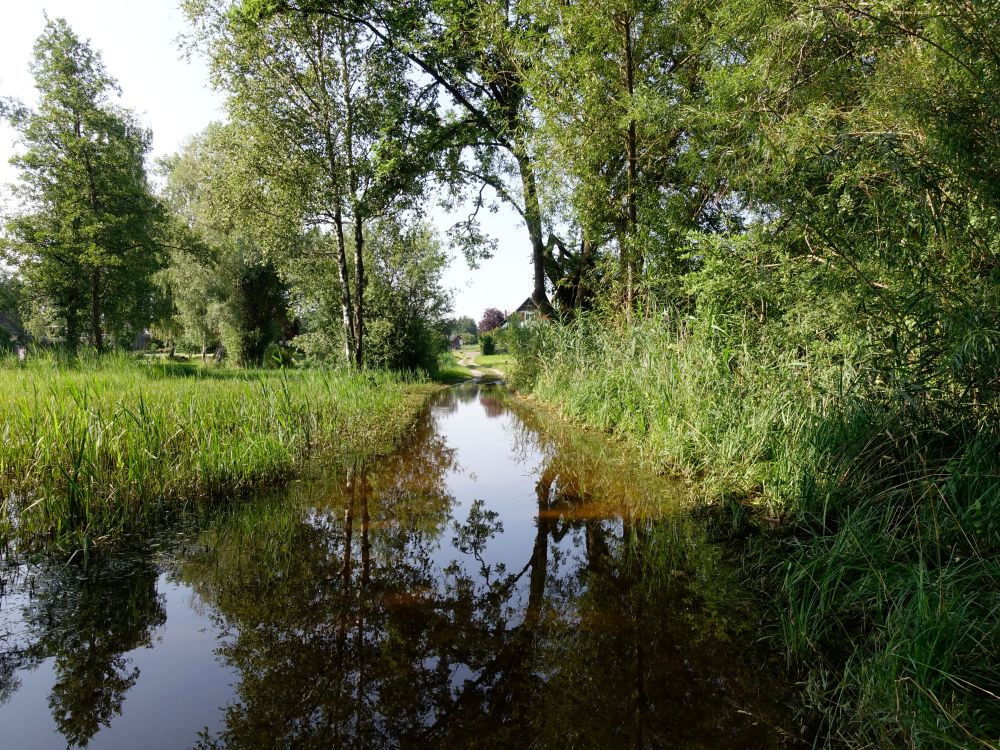
[[[523,220],[531,248],[532,298],[552,312],[547,285],[564,282],[570,251],[546,216],[533,140],[535,122],[524,68],[528,40],[545,34],[529,3],[510,0],[245,0],[255,17],[330,18],[358,29],[426,81],[435,104],[449,113],[435,145],[450,159],[443,177],[453,202],[470,196],[471,215],[452,239],[468,257],[488,252],[478,215],[497,201]],[[471,192],[470,192],[471,191]]]

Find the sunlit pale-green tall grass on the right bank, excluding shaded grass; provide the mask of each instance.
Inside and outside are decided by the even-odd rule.
[[[785,507],[800,455],[790,444],[850,387],[853,371],[765,351],[712,322],[583,318],[522,331],[515,387],[618,433],[651,468],[701,480],[716,496]]]

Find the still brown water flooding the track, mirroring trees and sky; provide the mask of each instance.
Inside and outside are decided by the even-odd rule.
[[[784,746],[721,549],[615,453],[459,386],[368,469],[8,569],[0,746]]]

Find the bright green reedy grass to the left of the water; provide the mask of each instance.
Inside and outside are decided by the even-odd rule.
[[[387,451],[433,387],[380,372],[7,361],[2,536],[87,548],[281,481],[312,452]]]

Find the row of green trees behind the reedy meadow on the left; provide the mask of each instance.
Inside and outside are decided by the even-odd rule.
[[[329,192],[306,182],[315,165],[296,161],[292,141],[268,140],[273,127],[255,130],[241,117],[239,92],[230,123],[160,160],[154,189],[150,132],[115,103],[121,92],[100,54],[64,20],[47,20],[31,72],[35,109],[0,100],[23,146],[11,160],[21,179],[0,238],[0,346],[33,340],[100,353],[142,348],[151,333],[171,351],[225,354],[239,365],[288,364],[298,354],[436,368],[450,307],[447,256],[413,185],[384,188],[381,207],[366,208],[350,229],[346,257],[343,219],[310,208],[324,198],[314,188]],[[370,112],[375,102],[355,106]],[[351,127],[357,149],[374,147]],[[332,167],[359,202],[370,171],[353,157]]]

